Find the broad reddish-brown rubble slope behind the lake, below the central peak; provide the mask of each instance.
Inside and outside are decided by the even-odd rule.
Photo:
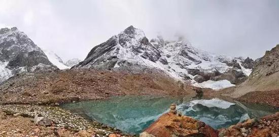
[[[149,70],[141,74],[88,69],[19,74],[0,85],[0,104],[53,104],[129,94],[195,94],[191,86]]]

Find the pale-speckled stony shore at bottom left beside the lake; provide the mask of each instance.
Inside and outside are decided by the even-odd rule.
[[[58,107],[50,107],[50,106],[38,106],[38,105],[0,105],[0,112],[2,113],[0,121],[4,121],[7,117],[17,118],[17,119],[29,119],[32,120],[38,114],[42,117],[45,117],[52,121],[51,125],[48,125],[50,128],[43,130],[50,130],[51,133],[47,134],[47,136],[57,136],[63,133],[72,133],[73,136],[78,136],[79,132],[84,132],[85,134],[89,133],[89,136],[93,134],[96,136],[109,136],[110,134],[121,134],[122,136],[128,136],[127,134],[123,134],[120,130],[103,125],[96,121],[91,121],[85,119],[79,115],[72,114],[69,111],[63,110]],[[18,125],[24,124],[20,123],[20,120],[17,121]],[[34,124],[34,123],[33,123]],[[4,127],[0,126],[0,136],[23,136],[24,133],[21,132],[9,132],[9,127],[11,125],[5,125]],[[45,127],[45,126],[43,126]],[[39,128],[39,127],[38,127]],[[5,130],[8,129],[8,130]],[[15,128],[14,130],[17,130]],[[56,135],[55,135],[55,132]],[[91,133],[90,133],[91,132]],[[30,132],[30,135],[34,135],[34,132]],[[33,133],[33,134],[32,134]],[[28,135],[28,133],[24,134],[24,136]],[[42,134],[38,134],[42,135]],[[61,135],[60,135],[61,136]]]

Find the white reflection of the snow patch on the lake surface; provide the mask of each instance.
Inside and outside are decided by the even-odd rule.
[[[191,103],[190,106],[194,106],[196,104],[201,104],[208,108],[217,107],[217,108],[221,108],[221,109],[227,109],[230,106],[234,105],[231,102],[221,100],[219,98],[192,100],[190,103]]]

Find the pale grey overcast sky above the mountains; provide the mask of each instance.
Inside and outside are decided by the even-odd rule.
[[[17,26],[62,59],[84,59],[92,47],[133,25],[149,39],[184,35],[192,46],[258,58],[279,44],[279,1],[0,0],[0,27]]]

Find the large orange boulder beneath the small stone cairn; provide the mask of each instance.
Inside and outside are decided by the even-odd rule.
[[[151,124],[146,132],[155,136],[218,136],[216,130],[206,126],[203,122],[187,116],[177,116],[173,113],[163,114],[158,120]]]

